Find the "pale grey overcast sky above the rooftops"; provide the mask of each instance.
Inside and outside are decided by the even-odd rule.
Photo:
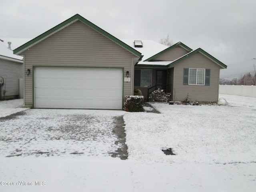
[[[224,64],[221,76],[256,65],[256,0],[0,0],[0,38],[34,38],[80,14],[119,39],[202,48]],[[239,68],[239,70],[237,70]],[[236,70],[235,70],[236,69]],[[242,71],[244,70],[244,71]]]

